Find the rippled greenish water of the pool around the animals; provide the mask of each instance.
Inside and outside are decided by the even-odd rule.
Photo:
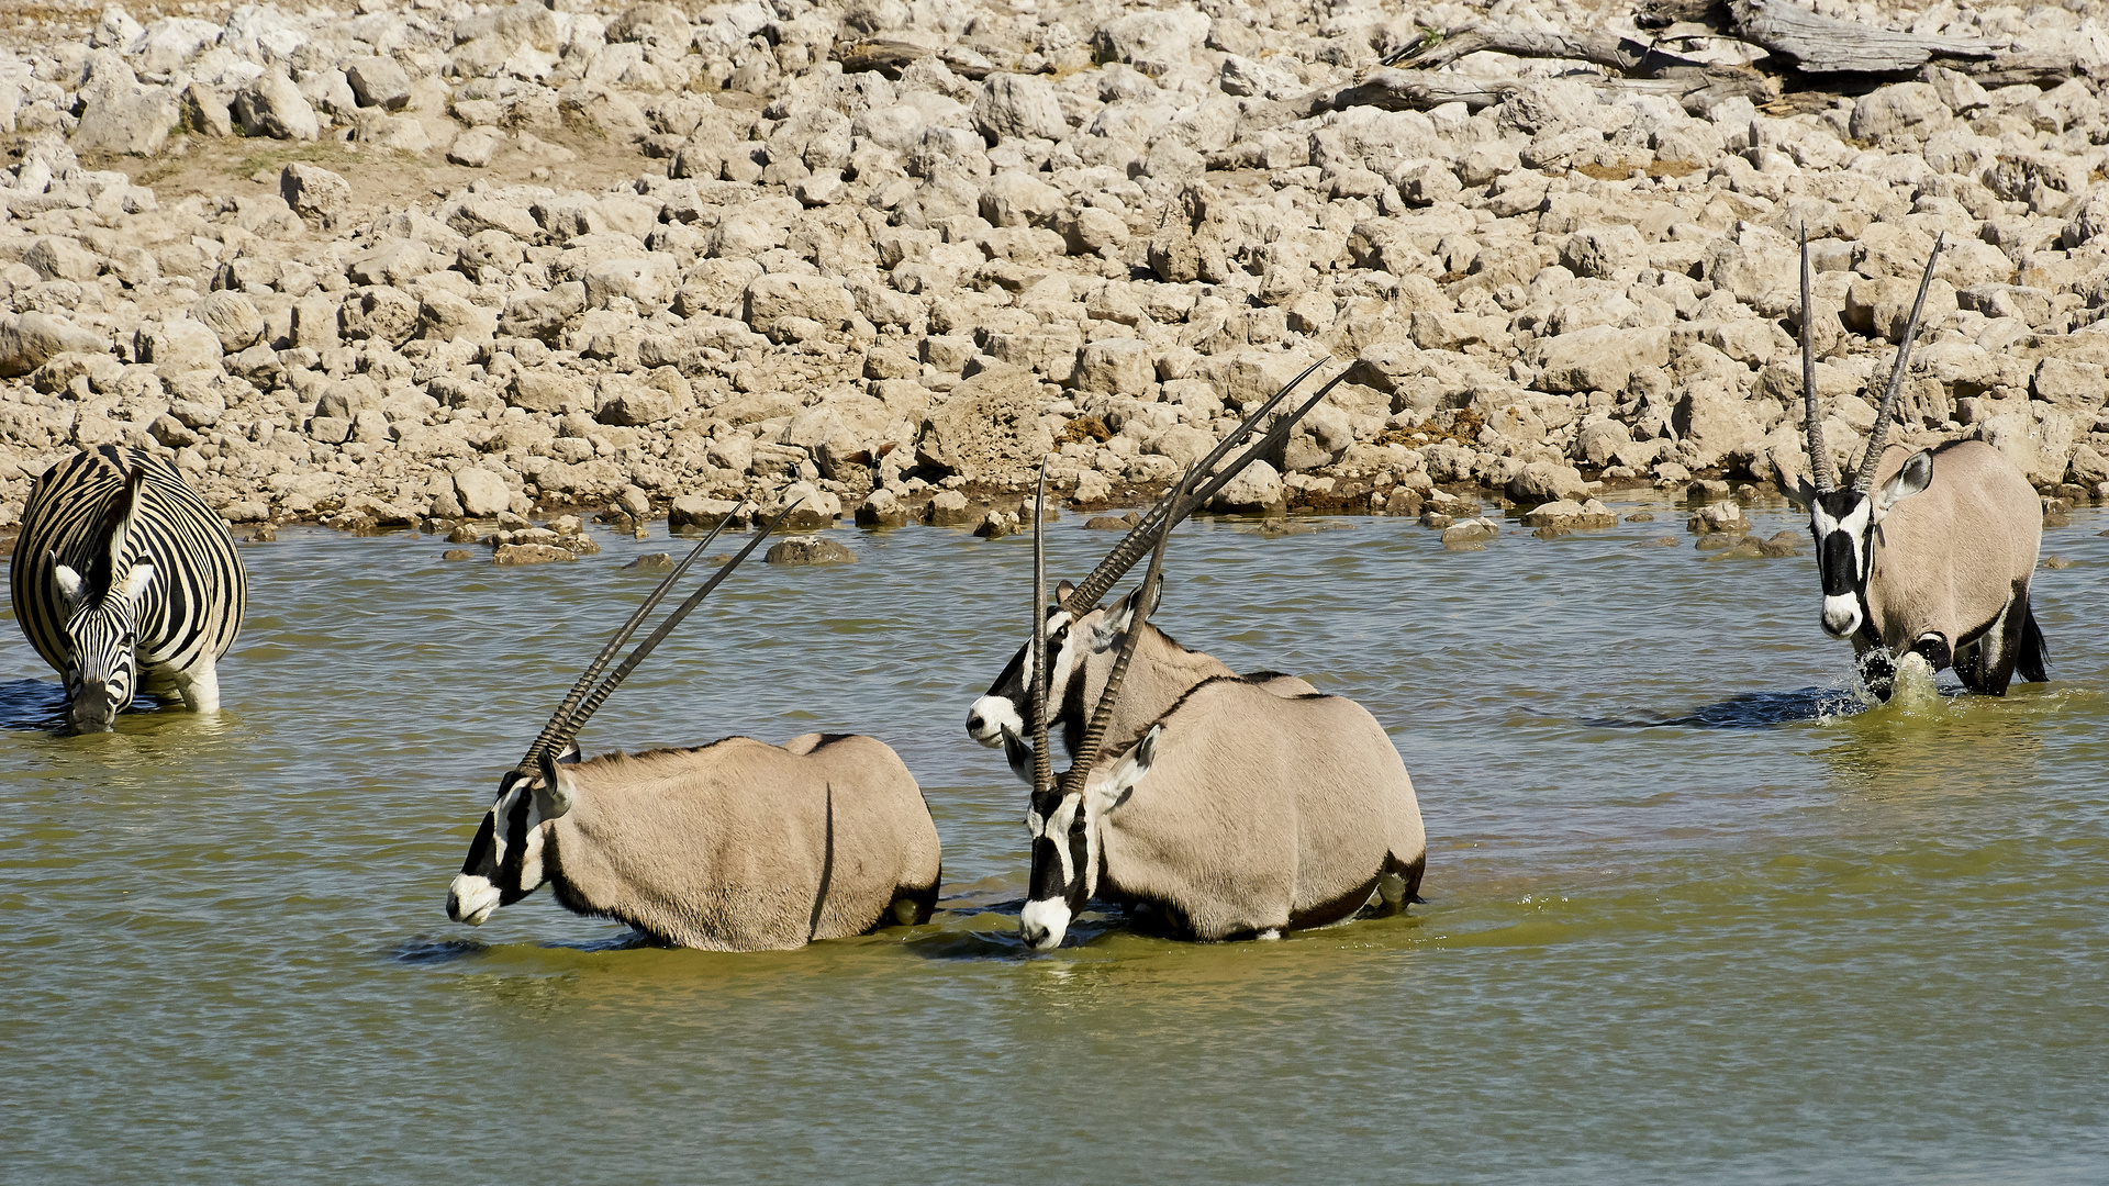
[[[1014,941],[1023,789],[962,722],[1027,538],[753,563],[586,726],[901,751],[945,910],[791,954],[443,914],[664,538],[498,570],[289,530],[245,549],[226,715],[103,737],[36,728],[6,627],[0,1180],[2109,1178],[2109,513],[2046,534],[2054,684],[1858,711],[1807,555],[1704,561],[1653,509],[1476,553],[1181,532],[1158,620],[1362,701],[1428,821],[1426,905],[1278,943]],[[1111,540],[1067,517],[1054,572]]]

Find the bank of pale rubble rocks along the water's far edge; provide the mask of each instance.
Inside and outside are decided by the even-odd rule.
[[[131,443],[266,528],[506,515],[557,553],[576,525],[525,517],[797,496],[1004,534],[1044,454],[1120,504],[1324,361],[1217,509],[1561,534],[1807,464],[1801,228],[1835,460],[1944,236],[1898,437],[2109,498],[2098,8],[1818,4],[2065,46],[2056,84],[1759,108],[1481,51],[1445,72],[1514,82],[1428,110],[1377,106],[1428,30],[1647,34],[1510,0],[38,11],[0,32],[0,532]]]

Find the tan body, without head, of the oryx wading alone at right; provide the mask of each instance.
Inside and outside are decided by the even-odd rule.
[[[1881,490],[1913,456],[1890,445],[1875,468]],[[2044,515],[2029,479],[1999,449],[1955,441],[1932,452],[1932,481],[1875,525],[1866,582],[1871,633],[1892,654],[1940,635],[1974,688],[2012,671],[2029,612],[2029,582]],[[2018,606],[2018,614],[2008,610]],[[1869,631],[1854,642],[1869,650]],[[1972,654],[1976,650],[1976,654]],[[2006,690],[2006,677],[1997,680]]]

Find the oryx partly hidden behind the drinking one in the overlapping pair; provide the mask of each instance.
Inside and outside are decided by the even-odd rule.
[[[1308,367],[1295,380],[1291,380],[1282,390],[1274,395],[1259,412],[1251,414],[1238,428],[1234,428],[1223,441],[1200,462],[1194,464],[1194,473],[1208,475],[1208,466],[1219,462],[1238,445],[1276,405],[1280,405],[1291,390],[1297,388],[1318,363]],[[1200,684],[1202,680],[1213,680],[1219,675],[1232,675],[1230,667],[1215,661],[1198,650],[1187,650],[1179,646],[1177,639],[1158,631],[1156,627],[1143,623],[1130,631],[1133,595],[1122,597],[1114,606],[1101,608],[1099,599],[1120,582],[1122,576],[1143,557],[1154,538],[1175,528],[1181,519],[1194,513],[1196,506],[1204,504],[1217,490],[1221,490],[1232,477],[1236,477],[1246,464],[1259,458],[1263,452],[1280,445],[1295,428],[1297,420],[1305,412],[1318,405],[1320,399],[1333,390],[1335,384],[1346,378],[1346,371],[1333,382],[1318,388],[1316,395],[1305,399],[1295,412],[1282,416],[1268,428],[1253,447],[1240,454],[1223,471],[1208,477],[1204,483],[1196,483],[1194,490],[1181,492],[1175,485],[1164,498],[1149,509],[1147,515],[1126,534],[1099,568],[1084,578],[1082,585],[1071,587],[1067,580],[1057,589],[1054,606],[1046,610],[1046,646],[1052,665],[1052,680],[1048,682],[1048,726],[1061,726],[1063,747],[1073,758],[1078,753],[1078,741],[1084,734],[1086,705],[1099,701],[1107,671],[1114,667],[1114,646],[1128,637],[1137,637],[1133,667],[1128,671],[1128,692],[1120,699],[1114,709],[1114,722],[1109,726],[1109,739],[1114,749],[1124,749],[1128,741],[1139,737],[1141,728],[1158,718],[1158,713],[1170,709],[1181,694]],[[1025,669],[1033,663],[1031,654],[1033,642],[1027,639],[1019,646],[1019,652],[1010,658],[1010,665],[998,673],[989,690],[974,701],[966,713],[966,732],[974,741],[998,747],[1017,743],[1025,730],[1025,713],[1029,711],[1025,696]],[[1295,675],[1282,675],[1278,671],[1257,671],[1246,675],[1255,686],[1265,688],[1280,696],[1301,696],[1312,692],[1312,686]],[[1010,768],[1031,783],[1031,774],[1019,760],[1023,751],[1012,749]]]

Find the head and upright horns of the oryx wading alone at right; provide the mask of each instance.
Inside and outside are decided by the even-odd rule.
[[[1919,310],[1926,308],[1926,289],[1934,281],[1934,262],[1940,257],[1942,241],[1934,241],[1934,253],[1926,260],[1926,274],[1919,279],[1919,295],[1911,304],[1911,319],[1904,325],[1904,340],[1896,348],[1896,367],[1890,371],[1890,386],[1881,397],[1881,412],[1869,433],[1866,449],[1860,454],[1860,468],[1850,485],[1839,490],[1824,449],[1822,407],[1816,397],[1816,350],[1810,333],[1814,306],[1810,302],[1810,238],[1801,234],[1801,388],[1807,416],[1810,477],[1782,475],[1788,498],[1807,506],[1810,536],[1816,540],[1816,572],[1824,585],[1824,631],[1835,637],[1852,637],[1866,625],[1866,580],[1875,568],[1875,542],[1881,538],[1881,519],[1904,498],[1926,490],[1934,477],[1934,460],[1928,452],[1913,454],[1904,466],[1871,490],[1875,468],[1890,437],[1890,422],[1896,412],[1896,397],[1904,382],[1904,367],[1911,361],[1911,344],[1919,331]]]

